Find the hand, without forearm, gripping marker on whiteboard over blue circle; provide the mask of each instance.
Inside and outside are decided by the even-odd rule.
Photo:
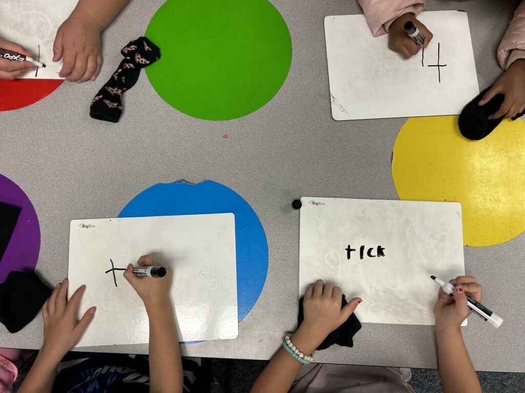
[[[151,255],[143,255],[137,262],[140,266],[162,266],[153,259]],[[164,305],[170,301],[170,287],[172,272],[166,268],[164,277],[137,277],[133,274],[133,265],[129,264],[124,271],[124,278],[128,280],[133,289],[137,291],[144,302],[146,310],[152,305]]]

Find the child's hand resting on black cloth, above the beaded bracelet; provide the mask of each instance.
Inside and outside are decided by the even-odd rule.
[[[306,330],[319,344],[335,329],[339,328],[354,312],[360,298],[351,299],[341,309],[343,292],[341,288],[317,280],[304,293],[304,320],[300,329]]]

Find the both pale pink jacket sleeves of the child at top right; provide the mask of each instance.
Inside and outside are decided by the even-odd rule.
[[[417,15],[425,7],[425,0],[358,0],[358,2],[363,8],[374,37],[386,34],[398,16],[407,13]],[[509,68],[513,61],[525,59],[525,2],[521,2],[514,12],[509,28],[499,44],[497,57],[499,65],[504,70]]]

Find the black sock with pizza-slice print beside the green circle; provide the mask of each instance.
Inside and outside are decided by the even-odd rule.
[[[91,101],[89,115],[94,119],[117,123],[122,114],[122,94],[137,83],[142,68],[161,56],[159,47],[146,37],[130,41],[121,53],[124,60]]]

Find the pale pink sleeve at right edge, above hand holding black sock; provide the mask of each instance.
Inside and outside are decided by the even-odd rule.
[[[509,27],[498,47],[498,61],[503,70],[506,70],[511,64],[508,61],[509,55],[514,49],[518,49],[518,51],[515,51],[515,54],[522,53],[522,51],[525,50],[525,2],[521,2],[516,12],[514,12]],[[513,56],[512,61],[518,58]]]

